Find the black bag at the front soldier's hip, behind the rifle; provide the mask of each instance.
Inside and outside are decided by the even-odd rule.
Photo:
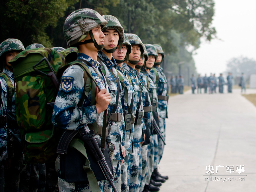
[[[98,145],[100,146],[101,140],[96,139]],[[89,147],[84,145],[86,149],[86,153],[88,159],[90,161],[90,168],[92,169],[97,181],[106,180],[98,162],[95,160],[92,152]],[[106,163],[110,168],[113,174],[113,166],[112,161],[110,159],[110,153],[108,148],[108,143],[105,143],[105,150],[103,153]],[[69,183],[89,183],[87,178],[87,173],[84,170],[83,166],[85,165],[86,158],[80,153],[77,149],[73,147],[69,147],[67,150],[67,154],[60,154],[60,172],[59,177],[65,179]],[[114,175],[114,174],[113,174]]]

